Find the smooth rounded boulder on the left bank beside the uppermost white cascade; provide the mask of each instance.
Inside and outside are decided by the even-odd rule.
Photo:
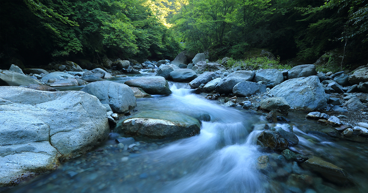
[[[148,94],[171,94],[169,83],[162,76],[147,76],[126,81],[124,84],[138,87]]]

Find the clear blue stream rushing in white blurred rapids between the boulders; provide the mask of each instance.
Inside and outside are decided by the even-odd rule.
[[[144,76],[154,73],[144,73]],[[142,76],[142,75],[141,75]],[[128,79],[110,79],[123,83]],[[72,88],[78,89],[78,88]],[[110,133],[110,139],[89,153],[63,162],[56,171],[36,176],[6,192],[22,193],[261,193],[261,192],[366,192],[368,190],[367,144],[334,141],[319,132],[325,128],[300,114],[289,114],[299,144],[296,153],[331,162],[345,169],[357,183],[340,187],[287,161],[278,152],[256,145],[261,131],[254,125],[266,123],[265,115],[191,94],[185,83],[170,82],[173,94],[137,99],[132,112],[180,112],[198,117],[208,113],[199,135],[178,140],[141,141],[134,148],[118,149],[114,141],[124,135]],[[128,116],[128,117],[130,117]],[[126,119],[127,117],[124,117]],[[121,119],[120,121],[123,121]],[[288,130],[285,125],[278,124]],[[314,132],[311,132],[314,131]],[[269,156],[267,169],[257,169],[257,158]],[[1,189],[0,189],[1,190]]]

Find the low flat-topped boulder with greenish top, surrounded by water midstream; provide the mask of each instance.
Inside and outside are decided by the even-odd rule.
[[[117,128],[127,135],[163,139],[197,135],[201,125],[198,119],[180,112],[154,111],[128,118]]]

